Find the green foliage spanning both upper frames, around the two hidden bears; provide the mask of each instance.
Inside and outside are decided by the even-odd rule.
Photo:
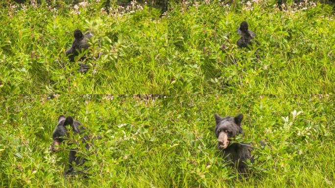
[[[60,1],[1,9],[1,94],[334,93],[330,5],[284,12],[274,0],[252,3],[253,10],[239,0],[231,6],[170,1],[161,17],[148,6],[116,14],[115,3],[107,15],[103,0],[90,2],[78,10]],[[243,20],[260,46],[236,46]],[[91,66],[86,74],[65,57],[76,28],[95,33],[92,56],[102,52],[84,62]]]

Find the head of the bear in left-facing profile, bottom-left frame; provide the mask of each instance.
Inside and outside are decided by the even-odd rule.
[[[58,150],[58,145],[66,140],[66,137],[69,136],[68,130],[67,130],[67,125],[71,125],[73,128],[73,131],[75,133],[78,132],[78,128],[76,126],[76,122],[74,122],[72,117],[67,117],[65,118],[64,116],[60,116],[58,118],[58,123],[53,130],[52,133],[52,143],[50,146],[51,151],[57,151]]]

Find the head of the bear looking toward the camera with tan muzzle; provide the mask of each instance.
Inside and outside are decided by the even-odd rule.
[[[217,138],[219,148],[227,148],[230,141],[229,139],[235,137],[239,133],[242,133],[242,119],[242,114],[239,114],[235,118],[230,116],[221,118],[218,114],[215,113],[215,136]]]

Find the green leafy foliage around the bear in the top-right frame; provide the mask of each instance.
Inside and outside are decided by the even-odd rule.
[[[274,3],[172,4],[168,60],[180,71],[176,87],[194,92],[334,93],[332,7],[308,2],[280,11]],[[261,43],[251,50],[236,45],[236,30],[244,20]]]

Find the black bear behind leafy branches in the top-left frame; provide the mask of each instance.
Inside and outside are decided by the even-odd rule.
[[[93,33],[87,32],[84,35],[83,32],[81,32],[81,30],[75,29],[73,35],[74,35],[74,41],[71,47],[65,52],[65,54],[69,57],[71,62],[74,62],[74,57],[78,56],[80,52],[83,52],[90,47],[88,42],[93,36]],[[84,60],[85,58],[86,58],[85,56],[82,56],[80,60]],[[90,69],[89,66],[84,64],[79,64],[79,66],[80,66],[79,69],[80,72],[86,72]]]

